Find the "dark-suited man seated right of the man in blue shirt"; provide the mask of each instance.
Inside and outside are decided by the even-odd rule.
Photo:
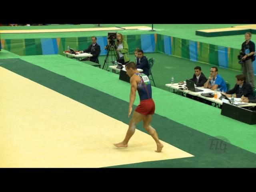
[[[244,97],[253,97],[253,90],[250,83],[245,81],[244,75],[236,76],[236,85],[233,89],[226,92],[227,97],[231,97],[231,94],[234,94],[234,98]]]

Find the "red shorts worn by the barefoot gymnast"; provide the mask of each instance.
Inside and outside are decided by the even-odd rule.
[[[142,100],[135,111],[142,115],[152,115],[155,112],[155,103],[152,99]]]

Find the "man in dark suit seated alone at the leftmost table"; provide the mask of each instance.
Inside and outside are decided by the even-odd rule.
[[[91,61],[96,62],[98,55],[100,54],[100,46],[96,43],[97,38],[95,36],[92,36],[92,44],[88,47],[88,49],[85,49],[83,51],[80,51],[80,53],[90,53],[92,54],[92,57],[86,57],[82,59],[82,61]]]

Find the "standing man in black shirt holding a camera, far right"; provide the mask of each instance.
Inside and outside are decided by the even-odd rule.
[[[246,81],[248,82],[248,76],[249,73],[249,82],[252,85],[252,88],[255,88],[254,86],[254,71],[252,67],[252,62],[254,61],[254,52],[255,52],[255,44],[254,42],[250,41],[252,38],[252,34],[250,32],[245,33],[245,42],[242,43],[242,51],[240,52],[240,55],[244,55],[241,59],[243,61],[242,64],[242,71],[246,78]]]

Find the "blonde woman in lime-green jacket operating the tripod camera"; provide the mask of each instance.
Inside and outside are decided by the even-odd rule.
[[[113,38],[111,36],[108,36],[108,46],[109,44],[113,43]],[[108,48],[108,46],[105,47],[105,49]],[[122,63],[122,65],[125,65],[130,61],[128,57],[128,44],[126,40],[124,40],[122,34],[118,33],[116,35],[116,42],[115,42],[115,48],[118,53],[119,59],[118,62]]]

